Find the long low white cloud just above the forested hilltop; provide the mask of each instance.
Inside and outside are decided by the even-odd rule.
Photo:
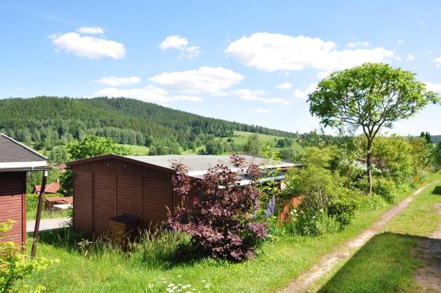
[[[187,95],[170,95],[167,90],[149,85],[146,88],[103,88],[95,92],[94,97],[125,97],[147,102],[171,102],[171,101],[203,101],[200,97]]]

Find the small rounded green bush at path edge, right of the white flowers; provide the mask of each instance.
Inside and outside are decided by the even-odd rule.
[[[340,223],[340,228],[349,225],[356,217],[358,202],[351,194],[340,194],[338,199],[331,201],[328,205],[328,214]]]

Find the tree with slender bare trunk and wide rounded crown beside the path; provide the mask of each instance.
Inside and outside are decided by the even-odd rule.
[[[367,139],[368,191],[372,192],[372,143],[378,131],[412,117],[440,97],[416,74],[382,63],[365,63],[331,73],[309,94],[309,111],[325,127],[362,128]]]

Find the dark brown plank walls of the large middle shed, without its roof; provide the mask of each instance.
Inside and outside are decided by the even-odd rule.
[[[107,159],[72,166],[74,228],[102,234],[109,219],[123,213],[139,216],[141,228],[167,219],[173,209],[171,174]]]

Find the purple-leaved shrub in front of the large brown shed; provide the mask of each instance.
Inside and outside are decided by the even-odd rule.
[[[169,212],[167,224],[179,232],[187,232],[190,245],[220,259],[241,261],[254,257],[254,249],[267,236],[266,226],[257,223],[254,217],[260,192],[254,184],[238,187],[238,172],[245,172],[252,182],[260,176],[256,165],[244,164],[241,156],[232,156],[236,171],[225,165],[216,165],[194,183],[187,176],[182,163],[173,163],[176,170],[173,178],[174,192],[188,200],[189,191],[196,192],[191,203]]]

